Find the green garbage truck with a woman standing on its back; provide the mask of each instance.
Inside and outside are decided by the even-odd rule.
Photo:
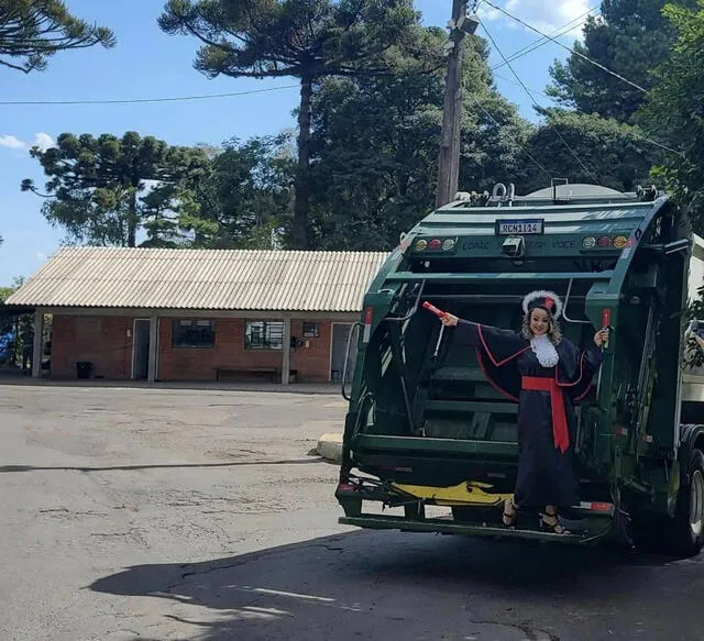
[[[654,187],[626,194],[554,180],[527,196],[513,185],[459,194],[402,237],[350,334],[340,522],[582,545],[622,538],[697,554],[704,323],[688,308],[703,286],[704,240]],[[569,534],[542,532],[537,519],[503,526],[518,406],[476,351],[424,309],[518,330],[532,290],[561,297],[562,333],[575,345],[610,328],[575,407]]]

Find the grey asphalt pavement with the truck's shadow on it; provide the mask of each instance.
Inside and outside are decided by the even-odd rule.
[[[0,388],[0,639],[697,640],[703,557],[337,524],[332,396]]]

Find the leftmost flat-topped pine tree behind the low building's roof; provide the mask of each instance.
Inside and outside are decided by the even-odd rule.
[[[200,150],[135,132],[121,139],[64,133],[55,147],[34,147],[31,155],[50,177],[43,213],[52,224],[78,242],[130,247],[140,230],[147,246],[177,244],[179,197],[207,166]],[[22,190],[38,192],[31,180]]]

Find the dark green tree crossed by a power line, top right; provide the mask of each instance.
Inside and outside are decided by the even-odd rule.
[[[575,43],[566,63],[551,69],[549,91],[558,100],[586,113],[632,122],[646,95],[590,64],[600,63],[645,89],[653,86],[652,70],[669,56],[675,30],[663,15],[666,0],[603,0],[602,12],[584,26],[584,43]],[[679,0],[693,7],[695,0]],[[581,54],[581,55],[579,55]]]

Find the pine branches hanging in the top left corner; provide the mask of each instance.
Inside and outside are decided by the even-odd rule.
[[[114,46],[112,31],[72,15],[61,0],[0,0],[0,66],[29,74],[56,52]]]

